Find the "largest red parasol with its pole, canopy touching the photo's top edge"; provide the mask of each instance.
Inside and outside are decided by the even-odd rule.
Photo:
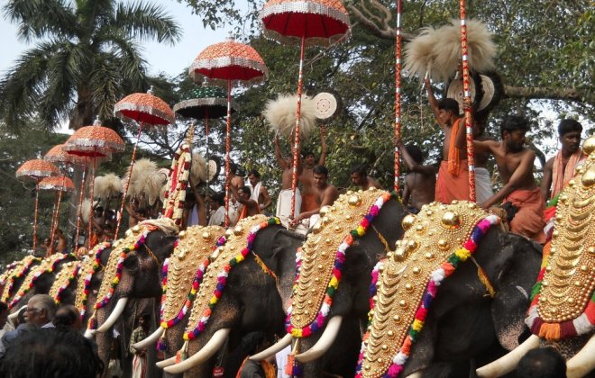
[[[298,187],[299,127],[303,88],[304,49],[311,45],[328,46],[350,30],[349,14],[339,0],[269,0],[261,11],[264,35],[282,43],[300,44],[298,108],[293,148],[291,214],[295,212]]]

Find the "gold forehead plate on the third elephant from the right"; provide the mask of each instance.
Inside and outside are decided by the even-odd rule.
[[[291,310],[294,328],[305,328],[316,320],[333,278],[337,248],[352,229],[358,228],[371,205],[384,193],[380,190],[345,193],[333,206],[321,209],[321,219],[302,247],[302,263],[294,286]]]

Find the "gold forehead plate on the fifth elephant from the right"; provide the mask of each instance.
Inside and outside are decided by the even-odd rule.
[[[169,258],[161,321],[178,316],[188,300],[198,267],[213,253],[217,239],[223,235],[220,226],[192,226],[180,233],[178,246]]]

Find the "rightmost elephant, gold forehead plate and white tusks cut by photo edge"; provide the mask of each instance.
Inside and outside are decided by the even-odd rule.
[[[478,369],[480,376],[508,374],[528,350],[540,345],[561,352],[570,378],[595,370],[595,137],[585,140],[583,151],[589,157],[558,197],[554,232],[532,291],[525,322],[533,335]]]

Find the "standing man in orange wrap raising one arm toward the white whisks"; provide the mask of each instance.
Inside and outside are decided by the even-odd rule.
[[[435,119],[444,131],[442,162],[438,171],[435,200],[450,203],[469,200],[469,168],[466,156],[465,125],[459,116],[459,103],[452,98],[438,102],[430,81],[426,79],[427,98]]]

